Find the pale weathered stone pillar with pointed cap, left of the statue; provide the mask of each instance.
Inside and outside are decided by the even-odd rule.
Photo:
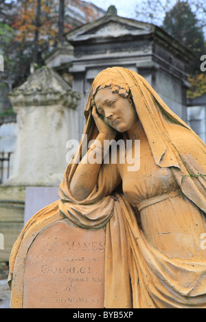
[[[10,94],[18,133],[14,171],[5,185],[58,186],[66,169],[66,143],[78,139],[79,95],[43,67]]]

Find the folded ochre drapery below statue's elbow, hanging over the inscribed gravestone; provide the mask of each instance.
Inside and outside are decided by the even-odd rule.
[[[11,307],[22,307],[23,271],[32,241],[45,227],[65,218],[58,209],[60,203],[34,215],[14,245]],[[85,208],[83,213],[78,205],[69,206],[73,213],[68,212],[68,219],[73,224],[88,228],[96,221],[98,228],[106,227],[105,308],[206,308],[206,262],[168,258],[152,247],[124,195],[102,199],[92,219],[91,210]],[[12,258],[10,263],[14,263]]]

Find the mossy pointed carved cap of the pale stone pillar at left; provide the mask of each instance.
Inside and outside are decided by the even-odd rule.
[[[73,92],[71,86],[56,71],[44,66],[15,88],[9,97],[14,110],[19,107],[54,105],[75,109],[80,93]]]

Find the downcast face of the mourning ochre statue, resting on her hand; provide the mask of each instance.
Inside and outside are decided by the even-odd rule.
[[[110,88],[102,88],[95,95],[95,106],[104,122],[118,132],[126,132],[137,121],[132,103]]]

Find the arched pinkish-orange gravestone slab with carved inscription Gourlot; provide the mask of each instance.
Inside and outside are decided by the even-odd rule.
[[[25,262],[23,308],[103,308],[104,229],[67,219],[34,238]]]

